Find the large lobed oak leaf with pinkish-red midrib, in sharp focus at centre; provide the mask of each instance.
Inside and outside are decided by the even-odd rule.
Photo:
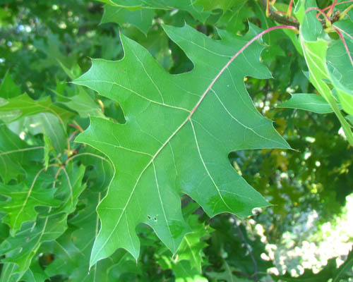
[[[171,75],[136,42],[121,35],[124,59],[92,60],[74,80],[119,102],[125,124],[91,118],[76,141],[95,147],[114,164],[115,175],[97,212],[102,221],[90,264],[124,248],[137,258],[135,228],[146,223],[173,253],[191,229],[181,215],[180,195],[189,195],[208,216],[231,212],[249,216],[268,206],[234,171],[234,150],[289,148],[272,121],[253,106],[245,76],[270,78],[260,62],[263,47],[253,37],[220,30],[215,41],[188,25],[164,26],[167,35],[193,61],[193,71]]]

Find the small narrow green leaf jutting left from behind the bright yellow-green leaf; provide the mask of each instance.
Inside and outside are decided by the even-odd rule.
[[[333,112],[330,104],[328,104],[323,97],[311,93],[292,94],[292,97],[287,102],[279,104],[277,108],[301,109],[313,111],[318,114],[328,114]]]

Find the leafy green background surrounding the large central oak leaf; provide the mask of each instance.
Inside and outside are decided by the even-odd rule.
[[[140,1],[123,7],[111,5],[117,0],[0,1],[1,281],[352,281],[352,252],[347,254],[353,149],[335,114],[277,107],[290,94],[317,93],[295,40],[282,30],[263,36],[261,61],[273,79],[244,80],[258,111],[294,150],[228,156],[273,205],[246,219],[210,219],[185,195],[182,215],[193,233],[177,255],[140,224],[138,264],[119,249],[89,269],[100,230],[96,207],[114,167],[104,154],[74,140],[92,116],[126,121],[118,102],[68,82],[90,69],[90,58],[121,59],[120,34],[178,74],[191,71],[194,62],[162,23],[186,23],[215,40],[218,29],[244,36],[251,27],[258,32],[276,25],[261,1],[171,2],[143,1],[137,8]],[[273,8],[287,11],[289,1],[276,3]],[[332,1],[317,4],[325,8]],[[350,10],[349,32],[352,19]]]

